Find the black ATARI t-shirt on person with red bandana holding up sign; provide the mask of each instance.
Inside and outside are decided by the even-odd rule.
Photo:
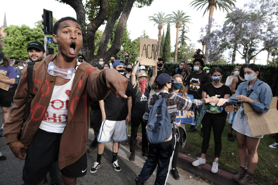
[[[136,118],[142,118],[145,114],[148,98],[150,97],[149,92],[151,91],[151,82],[148,82],[148,87],[146,87],[144,95],[142,95],[141,91],[139,91],[136,95],[137,91],[138,86],[137,83],[135,83],[133,86],[133,102],[131,116]]]

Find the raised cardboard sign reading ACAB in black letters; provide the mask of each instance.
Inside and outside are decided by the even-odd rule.
[[[140,37],[140,54],[142,57],[140,64],[156,66],[154,61],[157,57],[157,40]]]

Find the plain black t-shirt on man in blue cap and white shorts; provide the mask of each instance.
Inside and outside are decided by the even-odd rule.
[[[128,81],[127,89],[125,91],[127,97],[133,95],[131,83]],[[110,121],[122,121],[127,118],[127,98],[117,98],[113,92],[109,92],[107,97],[104,99],[104,109],[106,119]]]

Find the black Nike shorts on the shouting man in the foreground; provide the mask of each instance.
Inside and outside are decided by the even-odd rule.
[[[26,185],[39,184],[50,170],[52,163],[58,160],[61,135],[46,132],[42,129],[36,132],[26,151],[22,175],[22,179]],[[76,162],[60,171],[63,176],[68,178],[77,178],[86,175],[86,153]]]

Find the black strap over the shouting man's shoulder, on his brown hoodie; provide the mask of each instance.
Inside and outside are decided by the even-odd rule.
[[[25,102],[25,109],[24,109],[24,115],[23,115],[23,123],[26,121],[28,115],[30,114],[30,109],[28,110],[28,100],[29,100],[29,94],[30,94],[30,88],[32,84],[33,79],[33,68],[35,62],[28,62],[27,63],[27,84],[28,84],[28,90],[26,95],[26,102]]]

